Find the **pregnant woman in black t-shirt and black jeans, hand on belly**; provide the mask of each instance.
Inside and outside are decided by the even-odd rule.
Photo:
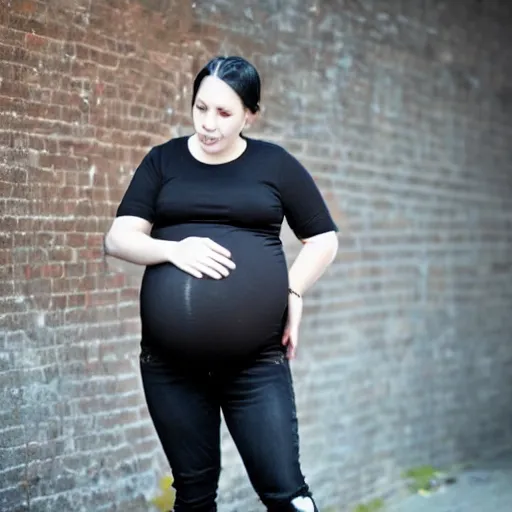
[[[249,62],[210,61],[193,85],[195,133],[149,151],[105,239],[108,254],[146,266],[140,367],[175,512],[217,510],[221,411],[267,510],[317,510],[289,360],[302,295],[333,261],[337,228],[291,154],[242,134],[259,101]],[[284,218],[303,242],[289,271]]]

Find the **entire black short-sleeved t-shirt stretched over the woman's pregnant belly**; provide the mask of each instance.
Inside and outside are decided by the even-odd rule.
[[[146,219],[161,240],[211,238],[231,252],[236,269],[215,280],[171,263],[148,266],[142,344],[194,365],[280,353],[288,304],[283,218],[300,239],[336,226],[310,174],[283,148],[247,139],[240,157],[210,165],[192,156],[187,140],[146,155],[117,215]]]

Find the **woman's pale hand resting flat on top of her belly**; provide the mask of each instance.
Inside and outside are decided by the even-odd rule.
[[[231,253],[210,238],[191,236],[173,244],[169,261],[194,277],[222,279],[235,268]]]

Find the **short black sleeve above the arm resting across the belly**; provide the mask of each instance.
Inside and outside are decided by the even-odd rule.
[[[142,159],[119,204],[116,217],[133,215],[154,223],[155,203],[162,183],[156,148]]]

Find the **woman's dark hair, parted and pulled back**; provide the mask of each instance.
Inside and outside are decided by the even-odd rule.
[[[242,103],[253,114],[260,109],[260,76],[256,68],[242,57],[215,57],[197,74],[192,92],[192,106],[203,79],[216,76],[240,96]]]

